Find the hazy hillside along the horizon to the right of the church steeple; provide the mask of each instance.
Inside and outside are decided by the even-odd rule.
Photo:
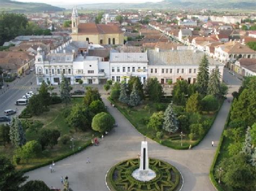
[[[158,3],[80,4],[83,9],[256,9],[255,0],[164,0]],[[68,7],[67,7],[68,8]],[[71,8],[71,6],[69,6]]]

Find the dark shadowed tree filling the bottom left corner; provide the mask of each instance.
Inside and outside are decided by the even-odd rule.
[[[23,176],[23,172],[16,170],[9,159],[4,155],[0,155],[0,190],[15,191],[19,190],[19,185],[28,179]]]

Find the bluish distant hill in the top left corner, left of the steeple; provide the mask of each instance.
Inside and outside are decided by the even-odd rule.
[[[33,1],[33,0],[31,0]],[[10,0],[0,0],[0,12],[46,12],[46,11],[62,11],[63,8],[58,8],[57,6],[52,6],[45,3],[23,3]]]

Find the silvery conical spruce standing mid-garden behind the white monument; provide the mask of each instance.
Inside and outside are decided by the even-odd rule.
[[[175,133],[178,128],[178,120],[176,115],[173,113],[172,103],[170,103],[164,112],[163,129],[169,133]]]

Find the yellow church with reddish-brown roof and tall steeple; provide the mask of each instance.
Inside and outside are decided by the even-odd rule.
[[[76,8],[73,8],[71,21],[72,40],[86,40],[89,44],[124,44],[124,32],[121,31],[119,26],[95,23],[79,23],[79,16]]]

